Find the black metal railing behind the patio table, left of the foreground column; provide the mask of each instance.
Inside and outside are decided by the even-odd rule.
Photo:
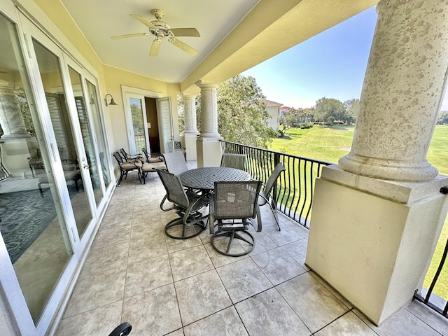
[[[322,167],[332,163],[229,141],[222,141],[221,146],[223,153],[245,154],[246,172],[251,174],[252,179],[262,182],[269,179],[278,162],[283,163],[286,171],[280,175],[272,192],[277,210],[305,228],[309,228],[314,181],[321,176]]]

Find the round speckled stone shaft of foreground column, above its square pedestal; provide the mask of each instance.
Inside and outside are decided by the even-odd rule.
[[[429,181],[426,160],[448,69],[447,1],[381,0],[346,172]]]

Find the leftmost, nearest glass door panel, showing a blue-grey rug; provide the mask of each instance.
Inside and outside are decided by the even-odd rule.
[[[15,25],[1,14],[0,41],[0,232],[37,323],[73,246]]]

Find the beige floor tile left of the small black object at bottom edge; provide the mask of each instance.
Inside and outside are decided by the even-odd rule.
[[[62,319],[55,335],[109,335],[117,325],[120,325],[123,301],[106,304],[106,306],[85,311]]]

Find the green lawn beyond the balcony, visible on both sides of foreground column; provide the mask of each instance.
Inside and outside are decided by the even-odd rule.
[[[302,156],[315,160],[337,163],[337,160],[350,151],[353,139],[352,126],[323,127],[314,126],[308,130],[291,129],[284,139],[274,139],[269,150]],[[437,125],[433,139],[428,149],[428,162],[439,170],[439,174],[448,175],[448,126]],[[430,286],[430,280],[437,270],[442,258],[444,246],[448,239],[448,217],[445,220],[442,235],[437,244],[433,261],[428,270],[424,287]],[[434,292],[448,299],[448,262],[445,263],[442,274]]]

